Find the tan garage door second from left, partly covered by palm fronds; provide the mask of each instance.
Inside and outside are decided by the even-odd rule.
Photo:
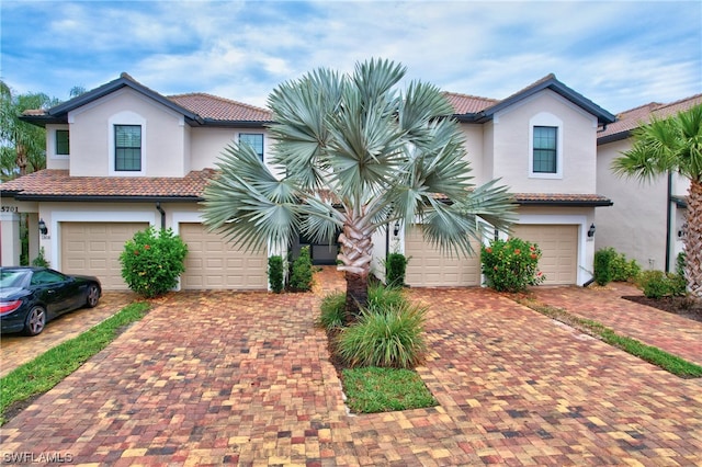
[[[265,289],[268,255],[245,252],[201,224],[181,224],[180,237],[188,243],[184,289]]]

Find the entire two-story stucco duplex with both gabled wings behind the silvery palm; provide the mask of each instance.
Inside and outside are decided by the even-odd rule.
[[[476,183],[500,178],[511,187],[519,204],[514,235],[540,244],[547,283],[587,282],[595,210],[611,204],[596,191],[597,135],[614,116],[554,76],[500,101],[446,95],[465,132]],[[32,258],[42,247],[54,267],[98,275],[105,289],[124,288],[124,242],[154,225],[172,228],[189,246],[182,288],[264,289],[268,252],[239,251],[207,232],[199,202],[233,139],[268,160],[271,118],[263,109],[208,94],[165,96],[124,73],[26,114],[47,130],[47,169],[0,189],[3,264],[19,260],[18,213],[29,213]],[[388,248],[411,257],[412,286],[480,285],[478,258],[442,258],[420,227],[383,237],[375,242],[377,259]],[[320,247],[313,258],[333,260]]]

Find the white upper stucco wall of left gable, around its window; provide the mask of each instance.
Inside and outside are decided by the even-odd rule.
[[[68,115],[70,173],[73,176],[183,176],[183,116],[158,102],[124,88]],[[113,125],[140,124],[143,173],[114,172]]]

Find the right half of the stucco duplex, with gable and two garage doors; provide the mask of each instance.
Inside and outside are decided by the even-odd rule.
[[[496,101],[449,93],[467,140],[477,184],[500,179],[519,204],[513,235],[539,243],[546,284],[591,278],[595,210],[612,202],[596,191],[598,132],[614,116],[553,75]],[[442,258],[419,229],[399,243],[412,286],[479,285],[479,258]]]

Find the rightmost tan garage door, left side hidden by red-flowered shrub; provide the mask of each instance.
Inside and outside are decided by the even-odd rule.
[[[544,284],[577,283],[578,226],[519,225],[514,236],[541,248],[539,267],[546,275]]]

